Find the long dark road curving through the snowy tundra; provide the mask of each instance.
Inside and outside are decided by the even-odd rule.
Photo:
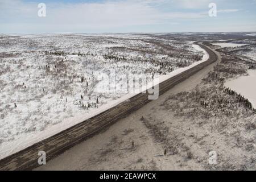
[[[159,95],[167,92],[175,85],[201,71],[208,65],[217,62],[217,60],[220,61],[220,57],[215,51],[200,42],[195,44],[208,52],[209,59],[191,69],[188,69],[187,71],[161,82],[159,84]],[[148,102],[150,102],[150,100],[148,100],[148,94],[139,93],[136,96],[131,97],[130,100],[122,102],[121,104],[114,106],[95,117],[87,119],[84,122],[81,122],[67,130],[61,131],[52,137],[44,139],[41,142],[35,143],[32,146],[17,152],[16,154],[0,160],[0,170],[26,170],[35,168],[38,166],[39,151],[46,152],[47,161],[53,159],[68,148],[92,137],[105,127],[108,127],[119,119],[126,117],[128,114],[141,108]]]

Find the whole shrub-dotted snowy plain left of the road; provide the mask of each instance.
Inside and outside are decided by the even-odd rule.
[[[127,76],[164,80],[208,58],[192,42],[159,36],[0,39],[0,158],[126,100],[134,88]]]

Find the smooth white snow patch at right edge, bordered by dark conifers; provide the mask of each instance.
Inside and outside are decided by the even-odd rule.
[[[256,70],[250,69],[248,73],[249,76],[242,76],[226,81],[225,86],[247,98],[254,109],[256,109]]]

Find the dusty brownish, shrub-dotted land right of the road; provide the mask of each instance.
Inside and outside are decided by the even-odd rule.
[[[216,42],[215,63],[36,170],[255,170],[256,40]]]

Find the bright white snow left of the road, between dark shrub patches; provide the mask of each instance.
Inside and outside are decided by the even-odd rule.
[[[63,35],[26,35],[22,38],[18,38],[18,40],[11,38],[15,43],[14,46],[11,45],[10,42],[7,42],[7,46],[3,45],[1,47],[0,44],[0,53],[14,53],[11,58],[1,59],[0,57],[0,64],[3,65],[2,71],[4,71],[2,75],[0,74],[0,84],[1,82],[5,84],[3,85],[3,88],[1,88],[0,93],[0,109],[5,111],[4,118],[2,118],[2,115],[0,118],[0,159],[31,146],[40,140],[57,134],[60,131],[68,129],[77,123],[85,121],[86,119],[91,118],[110,107],[118,105],[119,103],[133,97],[135,94],[146,90],[146,88],[151,88],[151,86],[158,82],[167,80],[168,78],[189,68],[195,67],[195,65],[202,63],[209,57],[208,53],[201,49],[200,46],[192,45],[191,43],[175,44],[176,48],[183,48],[183,44],[188,46],[189,51],[191,51],[189,54],[201,53],[203,55],[203,59],[201,61],[189,62],[188,67],[175,67],[175,70],[171,73],[167,73],[167,75],[156,74],[154,81],[149,79],[149,84],[147,86],[143,85],[141,89],[135,90],[133,93],[127,94],[122,92],[120,89],[120,92],[117,92],[115,88],[112,88],[109,92],[105,92],[107,89],[105,85],[106,80],[100,80],[99,78],[104,74],[106,75],[109,69],[114,68],[117,72],[116,80],[119,80],[117,82],[117,88],[119,88],[120,85],[124,84],[124,81],[121,79],[123,72],[133,73],[134,77],[140,77],[141,75],[151,77],[150,74],[145,74],[145,72],[148,70],[159,69],[159,66],[151,63],[137,63],[137,61],[132,63],[122,63],[121,61],[115,65],[114,63],[107,63],[106,60],[102,58],[101,55],[108,53],[109,48],[115,46],[145,46],[145,43],[142,40],[131,39],[134,37],[138,38],[138,36],[142,39],[140,35],[127,35],[125,38],[129,39],[126,39],[126,41],[109,40],[108,36],[105,35],[105,37],[107,37],[106,41],[97,43],[95,43],[95,40],[91,35],[83,35],[84,38],[76,38],[76,36],[72,36],[72,39],[69,39],[67,36],[64,36],[63,38]],[[115,36],[123,38],[123,35]],[[143,37],[143,39],[144,38],[145,37]],[[169,42],[170,44],[172,44],[172,42],[176,43],[174,40],[164,41]],[[31,46],[31,44],[33,46]],[[34,44],[38,44],[38,46],[34,46]],[[42,56],[37,52],[29,52],[31,49],[33,51],[51,51],[52,47],[54,47],[54,49],[57,48],[57,50],[60,51],[81,51],[81,53],[90,52],[97,54],[98,56],[90,56],[89,54],[86,56],[86,60],[84,60],[84,57],[68,55],[67,61],[64,61],[63,63],[64,66],[67,66],[67,68],[65,68],[66,71],[63,74],[67,75],[67,73],[70,72],[70,75],[72,75],[73,78],[65,80],[60,76],[58,82],[55,82],[54,80],[56,80],[56,77],[51,77],[51,75],[49,75],[49,73],[56,74],[55,68],[52,67],[49,60],[53,61],[55,59],[58,60],[59,58],[56,56],[48,56],[48,58],[47,56]],[[147,45],[146,49],[148,48],[155,49],[153,45]],[[17,53],[17,55],[15,55],[15,53]],[[118,55],[119,54],[126,56],[127,59],[131,60],[144,59],[144,55],[139,52],[122,51],[118,52]],[[172,61],[174,61],[174,63],[176,63],[176,61],[179,63],[185,61],[184,59],[166,57],[159,53],[152,54],[150,57],[152,57],[152,59],[162,59],[164,57],[171,63]],[[60,60],[61,59],[64,59],[64,56],[60,56]],[[19,64],[21,60],[22,64]],[[47,73],[48,75],[45,75],[46,71],[43,68],[46,64],[51,65],[49,71],[47,71],[49,72]],[[71,64],[72,67],[70,66]],[[39,65],[40,69],[38,69]],[[24,68],[22,66],[24,66]],[[128,68],[123,69],[124,66]],[[27,67],[31,68],[27,70]],[[83,100],[80,98],[81,94],[84,93],[85,85],[81,84],[79,78],[80,75],[83,75],[89,83],[89,86],[86,88],[88,96],[84,95]],[[39,79],[39,77],[42,78]],[[58,86],[61,86],[58,85],[61,81],[64,82],[64,86],[68,85],[69,87],[61,87],[60,90],[65,90],[60,92],[57,88]],[[68,81],[71,82],[68,83]],[[25,85],[20,84],[22,82],[24,82]],[[27,88],[24,88],[24,86],[27,86]],[[46,90],[46,93],[42,93],[42,88]],[[89,99],[89,96],[92,97],[91,100]],[[96,96],[101,96],[100,104],[97,105],[98,109],[81,109],[80,101],[85,104],[92,101],[96,102]],[[16,109],[14,109],[13,106],[14,102],[18,105]]]

